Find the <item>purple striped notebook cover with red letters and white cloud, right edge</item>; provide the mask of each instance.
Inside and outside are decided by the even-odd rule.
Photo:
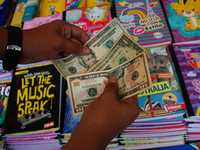
[[[173,44],[190,116],[200,116],[200,44]],[[179,69],[177,68],[177,69]],[[178,71],[178,70],[177,70]],[[190,108],[191,107],[191,108]]]

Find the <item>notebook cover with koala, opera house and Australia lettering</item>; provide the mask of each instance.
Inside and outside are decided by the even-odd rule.
[[[166,48],[147,49],[152,88],[138,94],[137,119],[186,113],[186,106]]]

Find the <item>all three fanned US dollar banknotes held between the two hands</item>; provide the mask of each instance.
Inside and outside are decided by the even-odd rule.
[[[73,115],[84,112],[104,91],[111,76],[118,79],[119,100],[151,88],[148,51],[133,40],[117,18],[90,38],[85,46],[91,50],[89,55],[69,55],[52,61],[67,80]]]

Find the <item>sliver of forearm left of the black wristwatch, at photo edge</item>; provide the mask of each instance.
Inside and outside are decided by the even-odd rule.
[[[0,60],[3,60],[3,57],[6,53],[8,31],[6,28],[0,27],[0,33]]]

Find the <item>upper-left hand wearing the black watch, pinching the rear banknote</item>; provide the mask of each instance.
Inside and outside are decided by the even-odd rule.
[[[23,30],[19,63],[58,59],[69,54],[87,55],[90,50],[83,44],[88,39],[84,30],[62,20]]]

